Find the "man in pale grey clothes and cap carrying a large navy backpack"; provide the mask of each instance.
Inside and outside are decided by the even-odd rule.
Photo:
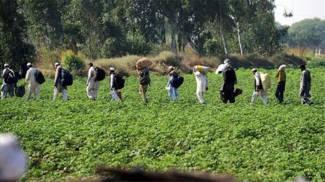
[[[53,94],[53,100],[57,98],[58,93],[62,93],[63,101],[68,100],[68,94],[67,94],[67,86],[61,84],[62,79],[62,66],[59,63],[54,64],[55,71],[55,78],[54,78],[54,94]]]

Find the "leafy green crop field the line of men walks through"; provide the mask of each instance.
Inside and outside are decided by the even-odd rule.
[[[183,75],[180,101],[172,103],[165,89],[167,76],[152,76],[148,104],[138,94],[135,76],[126,78],[123,102],[110,102],[108,77],[101,82],[96,101],[87,98],[86,78],[75,78],[68,87],[68,102],[61,95],[52,101],[53,79],[48,79],[39,101],[0,101],[0,132],[16,134],[29,156],[28,171],[21,180],[93,176],[95,166],[104,164],[226,173],[240,181],[283,181],[297,176],[324,181],[325,69],[308,70],[312,106],[301,104],[301,71],[293,68],[286,70],[284,104],[278,104],[274,96],[276,69],[259,70],[273,78],[267,105],[261,99],[250,104],[253,76],[248,69],[236,72],[236,87],[243,94],[235,104],[221,102],[223,78],[214,73],[208,75],[205,105],[198,102],[193,75]]]

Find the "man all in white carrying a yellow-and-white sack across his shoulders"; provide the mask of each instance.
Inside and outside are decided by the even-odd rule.
[[[197,96],[201,104],[205,104],[204,93],[208,90],[209,81],[205,74],[200,71],[194,71],[193,73],[197,80]]]

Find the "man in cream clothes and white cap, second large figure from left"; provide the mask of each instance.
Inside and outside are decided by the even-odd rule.
[[[28,89],[26,95],[26,101],[30,99],[31,93],[35,94],[35,99],[39,100],[39,92],[41,90],[41,84],[36,81],[36,73],[38,70],[34,68],[31,63],[27,63],[27,73],[25,76],[25,83],[28,82]]]

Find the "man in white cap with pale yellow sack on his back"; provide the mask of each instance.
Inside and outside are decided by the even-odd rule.
[[[262,97],[262,101],[264,104],[268,103],[268,92],[263,89],[261,73],[259,73],[255,68],[252,69],[252,74],[254,76],[254,92],[252,95],[251,103],[254,103],[258,96]]]

